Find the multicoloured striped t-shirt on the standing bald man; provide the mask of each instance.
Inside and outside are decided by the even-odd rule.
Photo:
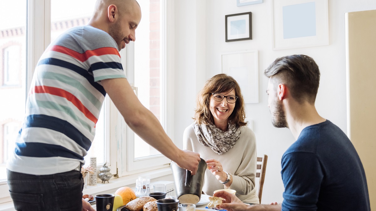
[[[74,27],[44,51],[35,68],[26,116],[7,168],[49,175],[84,163],[105,99],[100,80],[125,78],[115,40]]]

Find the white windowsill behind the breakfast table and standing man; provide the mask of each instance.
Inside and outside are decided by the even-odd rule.
[[[134,175],[122,176],[120,178],[111,178],[109,182],[106,182],[105,184],[98,182],[96,186],[88,185],[85,189],[83,189],[82,193],[93,195],[93,196],[95,196],[98,193],[113,193],[119,187],[135,186],[136,179],[138,179],[138,176],[145,177],[147,175],[150,175],[150,180],[154,181],[155,178],[158,178],[161,176],[167,176],[170,174],[171,174],[170,167],[164,167],[162,169],[151,170],[147,172],[137,173]],[[0,203],[0,211],[15,211],[13,202]]]

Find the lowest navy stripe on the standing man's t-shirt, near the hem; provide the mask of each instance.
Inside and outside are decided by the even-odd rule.
[[[26,157],[65,157],[83,160],[81,155],[63,146],[38,142],[16,143],[15,153]]]

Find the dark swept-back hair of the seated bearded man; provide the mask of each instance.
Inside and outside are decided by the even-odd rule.
[[[320,70],[316,62],[306,55],[291,55],[276,59],[264,72],[278,83],[285,83],[291,96],[299,103],[314,104],[320,83]]]

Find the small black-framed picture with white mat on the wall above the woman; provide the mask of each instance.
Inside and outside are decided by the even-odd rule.
[[[252,12],[225,15],[226,42],[252,39]]]

